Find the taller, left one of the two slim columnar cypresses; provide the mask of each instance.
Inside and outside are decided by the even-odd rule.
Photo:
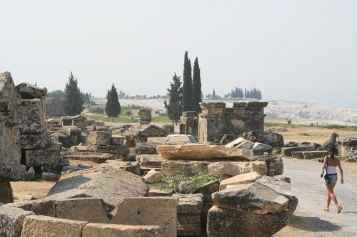
[[[192,75],[191,60],[188,59],[188,52],[185,52],[183,63],[183,87],[182,87],[182,111],[192,111]]]

